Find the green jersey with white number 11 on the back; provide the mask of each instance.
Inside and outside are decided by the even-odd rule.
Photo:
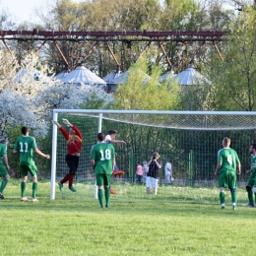
[[[21,136],[15,142],[14,150],[20,152],[20,163],[30,165],[34,162],[33,151],[36,143],[32,136]]]

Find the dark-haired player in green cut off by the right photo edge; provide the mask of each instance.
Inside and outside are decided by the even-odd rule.
[[[249,204],[247,207],[255,207],[253,202],[253,193],[255,195],[256,202],[256,144],[252,144],[249,148],[251,169],[246,170],[246,174],[250,174],[247,184],[246,191],[248,193]],[[253,188],[253,190],[252,190]]]

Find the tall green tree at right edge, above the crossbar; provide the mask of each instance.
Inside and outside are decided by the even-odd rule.
[[[223,44],[224,61],[212,67],[212,108],[218,110],[256,109],[256,12],[244,6],[230,27]]]

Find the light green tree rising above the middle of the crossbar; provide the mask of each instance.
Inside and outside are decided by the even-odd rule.
[[[131,66],[125,84],[120,84],[115,92],[114,108],[170,110],[180,107],[180,88],[174,83],[160,84],[159,67],[154,67],[151,77],[147,71],[145,57]]]

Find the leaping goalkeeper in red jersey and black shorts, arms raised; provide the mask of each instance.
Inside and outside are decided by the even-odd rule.
[[[62,191],[63,184],[68,181],[69,189],[72,192],[76,192],[77,190],[73,187],[73,180],[79,165],[83,136],[76,125],[71,124],[67,119],[63,119],[63,122],[69,127],[69,132],[67,132],[65,128],[61,126],[57,121],[53,121],[53,124],[57,125],[62,132],[68,146],[66,162],[69,167],[69,173],[66,174],[64,178],[59,182],[59,189]]]

